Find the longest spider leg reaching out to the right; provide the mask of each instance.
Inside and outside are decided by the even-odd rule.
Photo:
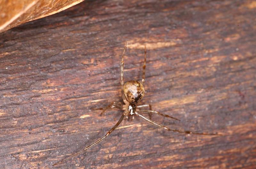
[[[199,135],[218,135],[218,136],[222,136],[221,134],[212,134],[212,133],[197,133],[197,132],[192,132],[192,131],[186,131],[186,130],[175,130],[175,129],[170,129],[166,126],[163,126],[161,124],[158,124],[150,119],[148,119],[147,117],[142,116],[141,114],[139,114],[138,112],[135,112],[135,115],[139,116],[140,118],[142,118],[143,120],[153,124],[156,127],[162,128],[164,130],[168,130],[168,131],[172,131],[172,132],[178,132],[178,133],[186,133],[186,134],[199,134]]]

